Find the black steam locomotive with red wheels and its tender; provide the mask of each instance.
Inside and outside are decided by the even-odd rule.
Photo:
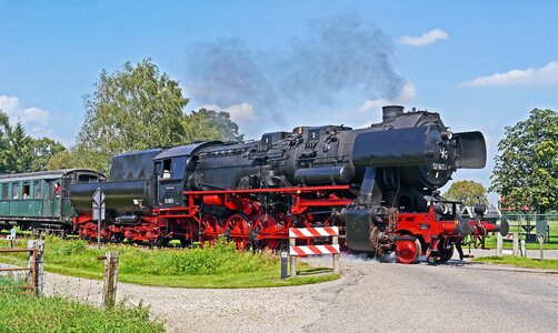
[[[196,142],[112,159],[107,181],[73,182],[72,229],[84,239],[279,249],[290,228],[337,225],[350,251],[452,255],[462,236],[505,225],[457,214],[437,191],[460,168],[486,163],[480,132],[452,133],[438,113],[390,105],[369,128],[298,127],[259,141]],[[100,189],[100,233],[91,196]],[[506,231],[507,233],[507,231]],[[320,240],[318,239],[317,242]]]

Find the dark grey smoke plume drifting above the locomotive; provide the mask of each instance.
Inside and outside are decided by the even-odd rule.
[[[256,51],[238,38],[192,44],[188,93],[206,104],[249,103],[261,118],[278,121],[302,108],[401,92],[405,80],[393,70],[393,42],[385,32],[347,13],[308,27],[306,37],[279,50]]]

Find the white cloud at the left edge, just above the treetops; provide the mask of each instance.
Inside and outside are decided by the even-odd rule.
[[[0,94],[0,110],[6,112],[13,125],[18,121],[26,127],[31,137],[46,137],[50,134],[48,129],[50,112],[39,108],[24,108],[17,97]]]

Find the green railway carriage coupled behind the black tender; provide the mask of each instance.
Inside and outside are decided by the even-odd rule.
[[[0,175],[0,230],[19,225],[36,232],[71,230],[70,184],[104,181],[103,174],[63,169]]]

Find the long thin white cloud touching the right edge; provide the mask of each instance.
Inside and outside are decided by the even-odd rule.
[[[459,87],[496,87],[516,84],[548,84],[558,83],[558,62],[550,61],[541,68],[510,70],[505,73],[494,73],[462,82]]]

